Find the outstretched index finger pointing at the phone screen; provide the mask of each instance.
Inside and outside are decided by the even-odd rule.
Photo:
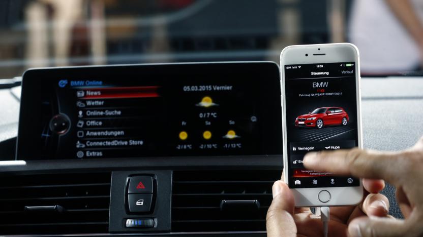
[[[394,152],[377,152],[358,148],[309,152],[304,166],[309,170],[334,172],[360,178],[384,179],[391,183],[401,177],[397,155]],[[404,164],[402,164],[403,166]]]

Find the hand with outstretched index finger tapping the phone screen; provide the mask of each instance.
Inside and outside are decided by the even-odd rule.
[[[423,235],[423,137],[413,147],[398,152],[357,148],[310,152],[304,157],[304,166],[337,175],[384,179],[397,188],[397,202],[405,220],[356,218],[348,226],[350,236]]]

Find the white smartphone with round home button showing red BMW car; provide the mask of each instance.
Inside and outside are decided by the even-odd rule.
[[[358,204],[361,180],[307,170],[309,151],[362,147],[360,67],[352,44],[289,46],[281,53],[285,182],[297,207]]]

